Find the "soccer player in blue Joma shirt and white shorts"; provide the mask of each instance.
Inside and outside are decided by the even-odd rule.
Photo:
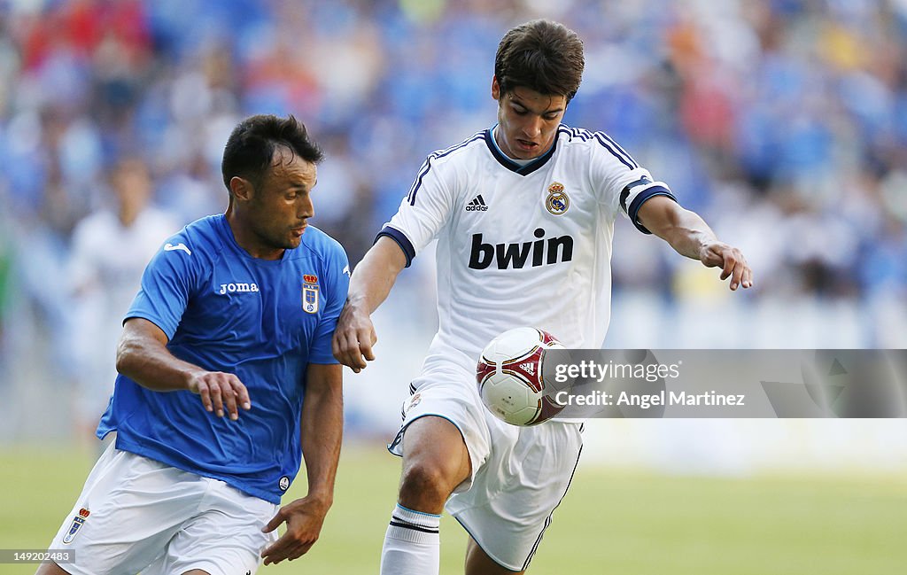
[[[230,134],[226,213],[164,243],[127,313],[97,431],[116,441],[51,544],[75,561],[38,573],[248,574],[317,540],[340,452],[331,337],[349,285],[344,250],[307,225],[321,158],[292,116]],[[302,458],[307,496],[280,507]]]

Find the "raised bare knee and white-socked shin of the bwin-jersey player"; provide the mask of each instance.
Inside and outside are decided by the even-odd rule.
[[[469,473],[469,453],[456,426],[432,415],[409,424],[397,505],[381,549],[383,575],[437,575],[444,502]]]

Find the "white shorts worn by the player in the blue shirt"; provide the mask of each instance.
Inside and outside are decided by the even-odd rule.
[[[254,573],[259,553],[277,541],[261,528],[278,505],[227,483],[184,472],[111,444],[51,549],[72,549],[73,575]]]

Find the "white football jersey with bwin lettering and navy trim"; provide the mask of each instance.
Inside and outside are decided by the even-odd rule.
[[[493,129],[425,160],[381,235],[407,266],[437,239],[439,330],[430,356],[475,361],[506,329],[536,326],[571,348],[598,348],[610,320],[610,257],[619,212],[673,195],[603,132],[561,124],[551,150],[521,166]],[[473,364],[474,365],[474,364]]]

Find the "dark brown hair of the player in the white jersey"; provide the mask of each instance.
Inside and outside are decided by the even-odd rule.
[[[580,89],[584,65],[579,35],[551,20],[532,20],[504,34],[494,76],[502,94],[522,86],[570,102]]]

